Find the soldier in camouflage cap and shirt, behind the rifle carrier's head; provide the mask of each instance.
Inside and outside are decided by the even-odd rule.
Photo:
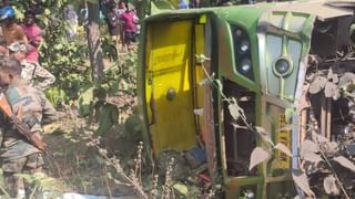
[[[34,86],[39,90],[47,90],[51,84],[55,82],[54,75],[42,67],[38,62],[31,62],[26,60],[26,52],[30,46],[14,42],[8,46],[10,55],[21,62],[22,73],[21,77],[26,84]]]

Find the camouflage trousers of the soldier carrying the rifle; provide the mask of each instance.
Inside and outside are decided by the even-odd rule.
[[[3,179],[6,185],[6,191],[11,198],[18,197],[18,190],[23,184],[26,198],[41,199],[43,193],[34,188],[36,185],[23,180],[19,177],[19,174],[32,175],[34,172],[40,172],[43,166],[43,158],[41,154],[32,154],[30,156],[21,157],[14,160],[2,161]]]

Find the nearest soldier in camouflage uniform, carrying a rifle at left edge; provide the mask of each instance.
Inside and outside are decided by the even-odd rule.
[[[34,136],[40,138],[41,124],[57,121],[54,107],[44,94],[21,81],[21,65],[11,57],[6,57],[0,64],[0,86],[14,114],[21,113],[21,121],[28,125]],[[34,174],[41,171],[43,159],[41,151],[17,133],[13,125],[6,118],[0,119],[3,138],[0,160],[7,192],[11,198],[18,195],[19,182],[22,180],[17,174]],[[33,185],[23,181],[27,198],[34,191]],[[34,198],[42,198],[37,189]]]

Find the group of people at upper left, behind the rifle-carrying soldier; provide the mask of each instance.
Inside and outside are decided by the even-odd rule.
[[[38,48],[43,32],[36,23],[36,13],[27,11],[22,23],[18,23],[14,9],[4,4],[0,9],[0,55],[13,57],[21,63],[21,76],[29,85],[40,90],[48,88],[55,77],[39,64]]]

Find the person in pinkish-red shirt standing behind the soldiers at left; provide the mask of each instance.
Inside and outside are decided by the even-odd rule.
[[[27,35],[29,44],[32,46],[26,54],[26,60],[31,62],[38,62],[38,48],[40,46],[43,34],[42,29],[36,24],[34,20],[36,17],[32,12],[28,11],[24,13],[24,23],[22,24],[22,29]]]

